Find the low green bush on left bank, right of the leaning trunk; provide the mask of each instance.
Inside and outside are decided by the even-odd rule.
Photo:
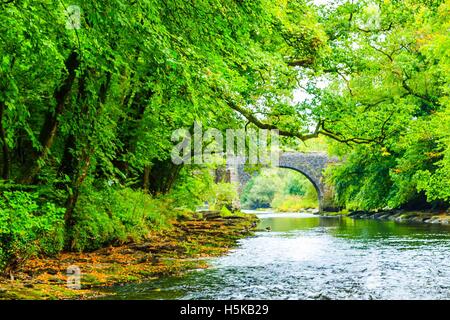
[[[153,199],[132,189],[93,188],[83,192],[77,203],[70,249],[94,250],[105,245],[139,242],[151,230],[167,229],[175,217],[173,199]]]

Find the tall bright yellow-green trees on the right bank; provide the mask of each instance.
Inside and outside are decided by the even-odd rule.
[[[450,3],[373,4],[372,26],[363,3],[340,5],[328,31],[327,68],[339,73],[324,94],[342,111],[329,128],[366,139],[333,143],[345,159],[330,173],[337,200],[351,209],[448,207]]]

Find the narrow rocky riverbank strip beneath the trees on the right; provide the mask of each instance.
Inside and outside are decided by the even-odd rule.
[[[378,212],[341,211],[341,212],[322,212],[319,213],[319,215],[325,217],[346,216],[352,219],[375,219],[375,220],[390,220],[396,222],[450,224],[450,214],[448,212],[404,211],[404,210],[385,210]]]

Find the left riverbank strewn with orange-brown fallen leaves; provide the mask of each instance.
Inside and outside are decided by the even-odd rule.
[[[142,243],[32,259],[14,279],[0,278],[0,299],[90,299],[107,286],[207,268],[204,258],[235,247],[238,239],[252,234],[257,220],[252,214],[206,212],[174,221],[171,229],[152,232]],[[67,287],[69,266],[81,270],[79,290]]]

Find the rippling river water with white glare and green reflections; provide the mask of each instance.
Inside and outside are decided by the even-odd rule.
[[[450,227],[261,213],[211,268],[117,287],[112,299],[450,299]]]

